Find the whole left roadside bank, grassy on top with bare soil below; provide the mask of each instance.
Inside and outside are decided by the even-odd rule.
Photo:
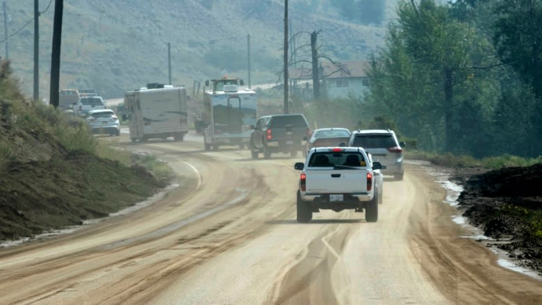
[[[105,217],[167,185],[165,163],[113,147],[83,119],[28,101],[2,61],[0,241]]]

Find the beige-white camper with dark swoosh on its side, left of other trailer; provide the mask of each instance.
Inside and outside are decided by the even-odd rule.
[[[186,100],[185,88],[156,83],[124,93],[132,142],[167,137],[182,141],[188,133]]]

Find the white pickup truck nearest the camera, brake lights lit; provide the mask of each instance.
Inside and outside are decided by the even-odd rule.
[[[384,168],[361,147],[317,147],[309,151],[297,190],[297,222],[309,222],[320,208],[336,212],[365,210],[367,222],[377,222]]]

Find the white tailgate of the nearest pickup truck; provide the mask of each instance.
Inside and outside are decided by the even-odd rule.
[[[367,170],[306,171],[306,192],[310,194],[345,194],[367,192]]]

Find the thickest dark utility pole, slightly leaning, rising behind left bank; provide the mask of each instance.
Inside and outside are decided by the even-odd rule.
[[[62,42],[62,14],[64,0],[55,0],[53,22],[53,50],[51,52],[51,89],[49,104],[58,107],[58,90],[60,89],[60,45]]]

